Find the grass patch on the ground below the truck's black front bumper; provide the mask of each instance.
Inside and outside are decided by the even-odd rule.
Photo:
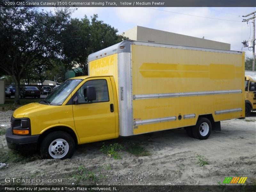
[[[13,151],[10,149],[4,149],[3,147],[0,148],[0,162],[1,163],[17,163],[20,162],[22,164],[25,164],[30,161],[35,161],[39,159],[38,154],[20,154],[17,151]]]

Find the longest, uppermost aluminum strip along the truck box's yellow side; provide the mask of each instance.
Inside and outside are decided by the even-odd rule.
[[[133,95],[133,100],[171,98],[171,97],[188,97],[188,96],[201,96],[201,95],[220,95],[220,94],[232,94],[232,93],[242,93],[242,90],[224,90],[224,91],[204,91],[204,92],[183,92],[183,93],[162,93],[162,94]]]

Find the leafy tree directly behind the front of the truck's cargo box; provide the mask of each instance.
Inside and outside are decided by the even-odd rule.
[[[61,34],[64,62],[70,69],[78,65],[84,75],[88,75],[89,54],[127,39],[117,35],[117,29],[97,18],[94,14],[91,21],[86,15],[81,20],[71,19]]]

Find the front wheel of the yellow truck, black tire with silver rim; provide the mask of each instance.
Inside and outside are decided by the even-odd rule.
[[[44,159],[66,159],[75,150],[74,139],[66,132],[56,131],[47,135],[41,143],[40,154]]]

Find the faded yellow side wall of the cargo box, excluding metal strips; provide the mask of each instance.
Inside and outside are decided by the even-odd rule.
[[[139,125],[134,134],[195,125],[212,114],[215,121],[244,116],[244,54],[132,45],[133,95],[242,90],[242,93],[133,100],[133,118],[176,116],[176,121]],[[242,108],[215,115],[215,111]],[[195,118],[183,119],[184,115]],[[181,115],[182,119],[178,120]]]

